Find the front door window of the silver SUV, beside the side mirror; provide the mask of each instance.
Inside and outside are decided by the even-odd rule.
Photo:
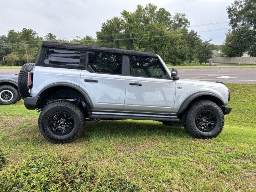
[[[158,58],[129,56],[130,75],[141,77],[166,78],[166,71]]]

